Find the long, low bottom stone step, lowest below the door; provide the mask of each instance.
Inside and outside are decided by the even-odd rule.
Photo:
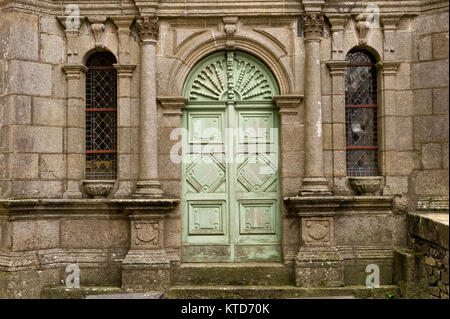
[[[295,286],[187,286],[174,285],[165,294],[168,299],[391,299],[400,298],[398,286],[346,286],[304,288]]]

